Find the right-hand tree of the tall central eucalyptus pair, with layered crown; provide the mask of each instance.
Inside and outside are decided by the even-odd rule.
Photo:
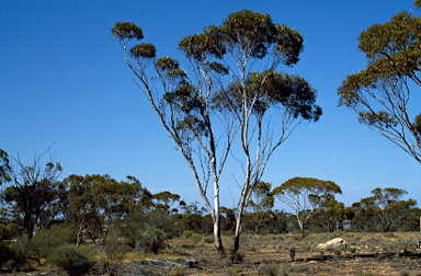
[[[206,32],[220,35],[219,48],[214,49],[231,77],[214,100],[216,108],[228,111],[240,127],[242,158],[236,159],[243,179],[236,215],[236,252],[242,216],[270,158],[299,124],[317,122],[321,108],[316,105],[317,91],[305,79],[276,71],[280,65],[291,67],[299,60],[303,36],[296,30],[273,23],[266,13],[243,10]]]

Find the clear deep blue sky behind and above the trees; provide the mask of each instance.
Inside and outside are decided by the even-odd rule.
[[[373,188],[399,187],[421,204],[420,164],[337,107],[337,88],[366,65],[359,34],[412,8],[412,0],[0,1],[0,148],[30,163],[35,150],[55,143],[62,176],[134,175],[152,193],[201,202],[186,162],[133,82],[120,46],[107,39],[117,21],[135,22],[158,56],[183,64],[181,38],[250,9],[303,34],[300,62],[278,69],[307,79],[323,108],[318,123],[301,125],[275,152],[263,181],[275,187],[294,176],[331,180],[346,206]],[[421,106],[417,89],[413,117]],[[236,166],[220,182],[227,207],[240,193],[230,176]]]

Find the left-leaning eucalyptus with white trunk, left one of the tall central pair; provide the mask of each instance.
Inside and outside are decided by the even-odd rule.
[[[138,85],[193,172],[198,193],[212,216],[217,253],[224,257],[220,239],[219,177],[236,134],[236,126],[229,116],[216,116],[212,107],[212,99],[221,88],[219,77],[227,73],[224,66],[215,60],[219,58],[219,54],[210,47],[213,44],[219,44],[218,34],[207,32],[180,42],[180,49],[191,64],[191,73],[187,74],[185,70],[180,69],[178,60],[168,56],[158,58],[156,48],[150,43],[140,43],[128,49],[127,44],[130,41],[144,38],[141,28],[136,24],[116,23],[112,33],[117,37],[125,61],[137,78]],[[192,45],[189,45],[189,39]],[[161,89],[158,89],[158,85]],[[225,131],[215,133],[220,128]],[[225,137],[225,145],[218,147],[221,137]],[[218,153],[220,158],[217,157]],[[208,196],[210,182],[214,206],[212,197]]]

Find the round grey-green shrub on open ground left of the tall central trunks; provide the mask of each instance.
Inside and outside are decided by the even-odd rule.
[[[158,254],[161,249],[166,248],[166,242],[168,240],[167,233],[156,227],[149,227],[143,232],[138,233],[136,250],[143,253],[153,252]]]

